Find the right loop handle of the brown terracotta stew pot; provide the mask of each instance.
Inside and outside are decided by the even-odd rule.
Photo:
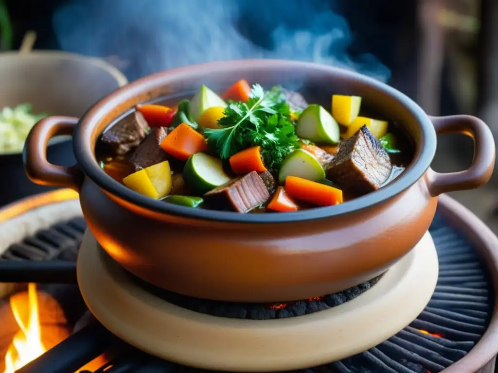
[[[441,193],[466,190],[486,184],[495,167],[495,141],[488,125],[470,115],[430,116],[437,134],[463,133],[474,140],[474,160],[465,171],[440,174],[430,169],[429,192]]]

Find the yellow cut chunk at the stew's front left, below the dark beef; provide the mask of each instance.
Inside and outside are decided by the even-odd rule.
[[[134,172],[125,177],[123,183],[126,187],[147,197],[154,199],[165,197],[172,187],[169,163],[164,161]]]

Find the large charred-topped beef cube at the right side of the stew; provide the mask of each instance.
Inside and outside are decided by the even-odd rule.
[[[378,189],[391,173],[391,161],[367,126],[344,141],[328,166],[327,178],[359,193]]]

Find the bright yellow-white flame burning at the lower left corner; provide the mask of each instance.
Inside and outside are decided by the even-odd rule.
[[[10,298],[10,308],[14,319],[19,325],[19,331],[15,334],[5,355],[5,371],[3,373],[14,373],[30,361],[36,359],[46,350],[41,340],[41,327],[38,313],[38,297],[36,285],[28,285],[28,320],[24,323],[20,313],[21,306]]]

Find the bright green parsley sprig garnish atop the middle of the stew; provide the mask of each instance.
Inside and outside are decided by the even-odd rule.
[[[289,105],[280,87],[264,92],[256,84],[248,102],[233,102],[224,114],[218,121],[220,129],[204,130],[208,145],[222,159],[259,145],[266,167],[276,170],[285,156],[299,147]]]

